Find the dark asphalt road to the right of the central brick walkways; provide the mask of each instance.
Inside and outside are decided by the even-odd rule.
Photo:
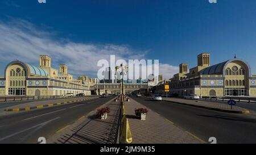
[[[132,98],[206,142],[209,137],[216,137],[217,143],[256,143],[254,115],[229,114],[166,101],[155,102],[143,97]]]

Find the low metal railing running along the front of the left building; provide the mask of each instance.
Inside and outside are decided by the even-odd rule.
[[[95,95],[85,95],[83,97],[92,97]],[[64,99],[64,98],[81,98],[81,97],[67,97],[67,96],[57,96],[57,95],[49,95],[49,96],[12,96],[12,97],[0,97],[0,102],[11,102],[18,100],[44,100],[44,99]]]

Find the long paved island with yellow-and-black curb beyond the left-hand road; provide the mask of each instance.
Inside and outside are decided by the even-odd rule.
[[[64,98],[53,100],[35,100],[34,102],[22,103],[15,106],[10,106],[4,109],[4,111],[28,111],[36,108],[45,108],[52,106],[59,106],[61,104],[80,102],[82,100],[89,100],[97,97],[80,97],[80,98]],[[2,112],[2,111],[1,111]],[[1,113],[0,112],[0,113]]]

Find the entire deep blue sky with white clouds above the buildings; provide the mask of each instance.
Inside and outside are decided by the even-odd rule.
[[[255,0],[46,1],[0,2],[0,74],[16,58],[38,64],[49,54],[55,68],[95,77],[97,59],[115,54],[159,59],[169,78],[181,62],[196,66],[201,52],[212,65],[236,53],[256,74]]]

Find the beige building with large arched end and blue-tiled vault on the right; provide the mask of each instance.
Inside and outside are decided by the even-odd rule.
[[[201,53],[196,67],[188,69],[188,64],[179,67],[180,72],[168,82],[170,93],[203,97],[256,96],[256,76],[251,74],[250,65],[236,56],[210,66],[210,53]]]

